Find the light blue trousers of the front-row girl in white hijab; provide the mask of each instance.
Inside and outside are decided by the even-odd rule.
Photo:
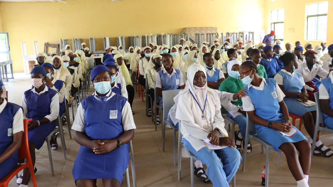
[[[229,186],[229,182],[236,174],[242,157],[239,151],[234,147],[227,147],[224,149],[212,150],[207,147],[201,148],[196,151],[192,145],[185,139],[185,148],[194,154],[194,156],[201,160],[203,164],[207,165],[206,174],[213,183],[214,187]],[[222,163],[220,162],[220,159]]]

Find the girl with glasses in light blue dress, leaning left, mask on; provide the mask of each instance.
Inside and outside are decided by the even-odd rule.
[[[310,143],[299,130],[290,137],[281,133],[289,132],[291,128],[296,129],[289,120],[288,108],[283,101],[285,95],[275,79],[258,76],[254,62],[244,62],[238,72],[246,86],[245,91],[239,91],[238,95],[242,96],[243,110],[255,123],[258,138],[271,144],[274,151],[281,149],[287,157],[288,167],[297,185],[308,187]]]

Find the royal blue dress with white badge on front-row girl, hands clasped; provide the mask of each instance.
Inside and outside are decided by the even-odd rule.
[[[115,140],[124,133],[121,111],[127,101],[126,97],[115,94],[109,100],[100,102],[94,95],[89,95],[81,101],[88,139]],[[129,144],[126,143],[107,154],[95,154],[90,148],[81,145],[74,161],[74,181],[106,178],[117,179],[121,184],[130,161],[128,148]]]

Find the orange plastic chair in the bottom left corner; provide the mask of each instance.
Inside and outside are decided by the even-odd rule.
[[[34,167],[32,166],[32,160],[30,157],[29,144],[28,144],[28,120],[26,119],[23,120],[23,126],[24,126],[24,132],[22,135],[21,147],[19,148],[18,151],[18,156],[19,159],[27,159],[27,163],[17,164],[17,167],[12,172],[10,172],[8,175],[6,175],[3,179],[0,180],[0,187],[7,187],[10,180],[24,168],[29,168],[32,184],[34,187],[37,187]]]

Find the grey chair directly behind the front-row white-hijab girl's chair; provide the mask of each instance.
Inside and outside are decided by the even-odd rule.
[[[163,142],[163,150],[165,147],[166,142],[166,124],[170,125],[172,127],[173,131],[173,165],[176,165],[176,132],[178,131],[178,128],[166,121],[168,118],[168,113],[171,109],[171,107],[174,105],[173,98],[179,93],[179,91],[184,89],[177,89],[177,90],[166,90],[162,91],[162,99],[163,99],[163,123],[162,123],[162,142]]]

